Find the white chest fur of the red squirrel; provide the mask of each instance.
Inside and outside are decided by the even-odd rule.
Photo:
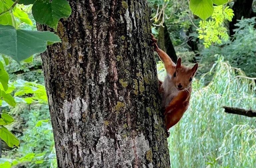
[[[172,82],[170,82],[170,79],[168,79],[168,77],[165,78],[162,87],[162,106],[166,107],[169,105],[171,100],[178,95],[179,90],[173,85]]]

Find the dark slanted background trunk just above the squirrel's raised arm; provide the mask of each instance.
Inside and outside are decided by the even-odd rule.
[[[174,46],[172,44],[172,40],[170,38],[169,32],[167,30],[167,26],[165,23],[163,23],[163,26],[159,27],[159,33],[158,33],[158,44],[159,48],[161,48],[163,51],[165,51],[169,57],[173,60],[173,62],[177,62],[177,55],[174,49]]]

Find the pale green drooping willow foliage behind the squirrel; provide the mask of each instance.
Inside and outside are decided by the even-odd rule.
[[[157,67],[163,79],[162,63]],[[193,81],[190,107],[170,128],[171,167],[254,167],[256,119],[226,114],[222,106],[256,109],[255,82],[238,77],[244,72],[223,57],[205,75],[213,76],[211,82],[204,86],[204,75]]]

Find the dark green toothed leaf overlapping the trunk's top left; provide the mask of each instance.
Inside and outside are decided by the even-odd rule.
[[[66,0],[37,0],[32,7],[35,21],[57,31],[60,18],[69,17],[71,8]]]

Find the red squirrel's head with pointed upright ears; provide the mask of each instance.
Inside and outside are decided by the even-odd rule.
[[[171,76],[171,81],[174,86],[182,91],[188,89],[191,86],[192,78],[194,77],[198,64],[196,63],[193,68],[188,68],[181,65],[181,58],[177,60],[175,71]]]

